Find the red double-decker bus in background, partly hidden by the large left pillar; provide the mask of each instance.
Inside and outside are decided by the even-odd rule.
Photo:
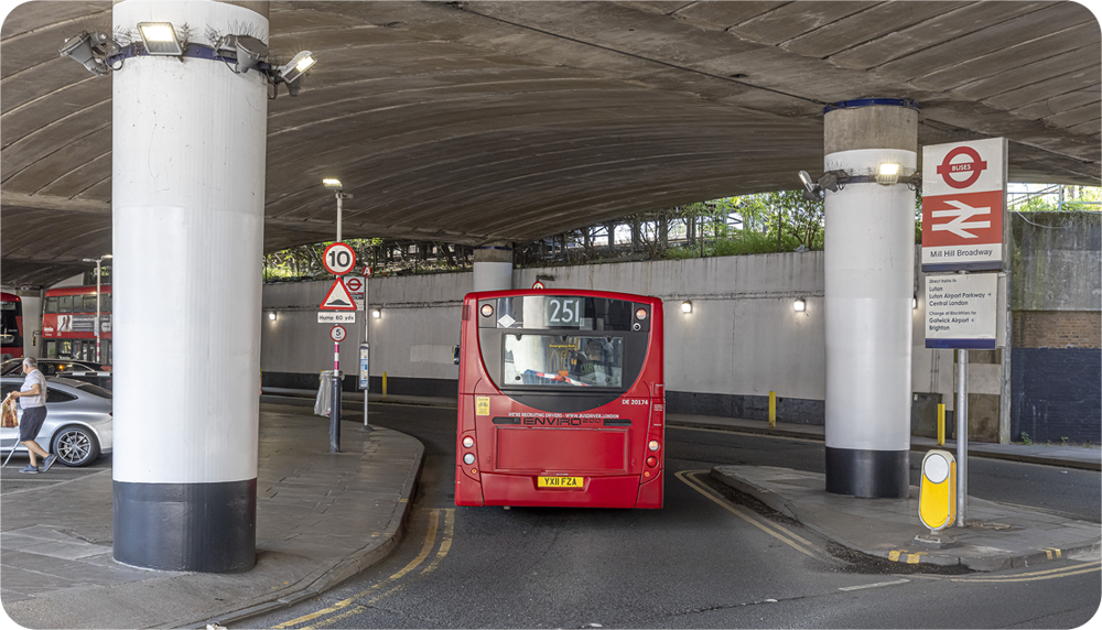
[[[46,291],[42,309],[42,356],[111,365],[111,285],[100,287],[100,356],[96,358],[96,287]]]

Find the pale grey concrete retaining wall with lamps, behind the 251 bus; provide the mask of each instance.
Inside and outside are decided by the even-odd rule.
[[[656,295],[666,303],[666,380],[669,409],[765,420],[768,395],[778,417],[821,424],[825,390],[822,252],[739,256],[677,261],[523,269],[514,286],[538,275],[549,289],[595,289]],[[916,279],[916,287],[925,283]],[[329,326],[316,323],[329,282],[264,285],[261,367],[270,387],[317,385],[332,369]],[[452,346],[458,343],[460,304],[471,273],[374,278],[368,309],[372,390],[388,376],[388,391],[439,395],[456,391]],[[918,291],[918,289],[916,289]],[[808,308],[796,313],[803,298]],[[681,303],[692,302],[683,314]],[[921,304],[920,300],[920,304]],[[276,322],[267,318],[276,312]],[[368,311],[368,312],[369,312]],[[364,313],[342,344],[343,369],[356,370]],[[952,398],[952,352],[926,350],[923,313],[915,311],[915,391]],[[948,357],[948,358],[947,358]],[[352,387],[352,379],[346,381]],[[436,392],[430,394],[430,392]]]

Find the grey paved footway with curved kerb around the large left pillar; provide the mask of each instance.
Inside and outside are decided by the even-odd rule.
[[[241,574],[116,563],[110,470],[0,496],[3,615],[21,630],[205,628],[314,597],[397,545],[420,442],[345,423],[334,455],[327,419],[263,405],[259,446],[257,565]]]

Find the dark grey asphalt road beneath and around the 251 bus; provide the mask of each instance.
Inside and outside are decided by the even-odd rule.
[[[456,508],[454,415],[372,405],[372,423],[425,445],[401,545],[325,596],[231,630],[1052,630],[1084,628],[1102,609],[1102,562],[917,573],[853,557],[693,472],[719,464],[821,470],[814,442],[671,428],[662,510]],[[1102,520],[1102,475],[973,461],[975,496]]]

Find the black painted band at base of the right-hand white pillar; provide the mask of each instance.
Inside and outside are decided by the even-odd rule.
[[[866,499],[906,499],[910,450],[827,447],[827,491]]]

